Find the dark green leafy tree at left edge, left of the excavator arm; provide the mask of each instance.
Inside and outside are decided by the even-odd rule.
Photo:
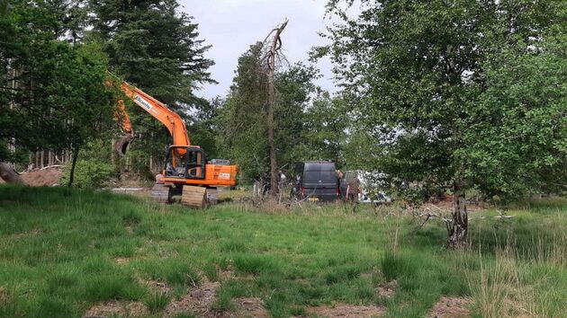
[[[0,138],[23,151],[70,147],[75,163],[80,146],[112,121],[103,52],[59,40],[65,28],[50,3],[14,1],[0,23]]]

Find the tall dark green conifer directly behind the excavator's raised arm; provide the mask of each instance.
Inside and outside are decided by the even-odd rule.
[[[193,110],[209,107],[194,91],[200,84],[214,83],[208,72],[213,62],[204,57],[210,46],[199,39],[197,24],[178,9],[177,1],[157,0],[103,0],[89,5],[94,36],[104,41],[112,71],[191,122]],[[141,134],[132,150],[161,157],[171,143],[166,128],[132,103],[129,112]]]

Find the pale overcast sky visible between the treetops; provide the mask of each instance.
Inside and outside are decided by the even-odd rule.
[[[216,63],[212,78],[219,84],[204,85],[197,95],[211,98],[224,96],[234,77],[238,57],[257,40],[264,40],[269,31],[285,18],[289,23],[282,33],[284,55],[290,63],[304,61],[312,46],[324,45],[318,31],[329,24],[325,19],[327,0],[181,0],[181,10],[199,24],[200,38],[212,48],[206,53]],[[320,61],[324,89],[336,91],[329,60]]]

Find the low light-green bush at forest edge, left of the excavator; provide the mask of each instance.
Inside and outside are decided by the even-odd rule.
[[[70,179],[71,165],[63,169],[61,184],[67,184]],[[73,185],[78,188],[97,189],[105,185],[106,181],[116,176],[112,163],[102,162],[92,158],[78,159],[76,161],[75,178]]]

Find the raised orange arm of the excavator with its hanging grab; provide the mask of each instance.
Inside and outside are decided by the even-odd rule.
[[[181,117],[170,110],[166,104],[157,101],[148,93],[144,93],[137,87],[134,87],[126,82],[122,82],[121,91],[128,96],[132,102],[136,103],[142,110],[146,110],[155,119],[159,120],[173,137],[173,144],[175,146],[191,146],[191,141],[187,135],[187,128]],[[134,138],[133,129],[130,122],[130,116],[126,112],[124,102],[118,101],[116,108],[116,117],[121,119],[122,130],[125,136],[122,137],[114,146],[120,155],[126,155],[128,146]]]

